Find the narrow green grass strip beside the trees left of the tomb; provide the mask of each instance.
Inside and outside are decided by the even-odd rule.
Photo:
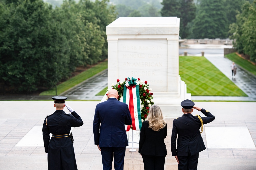
[[[83,82],[84,80],[94,76],[95,74],[105,70],[108,68],[108,61],[104,61],[80,74],[77,76],[72,77],[71,79],[59,84],[57,86],[57,95],[63,93],[64,91],[70,89],[71,87]],[[39,94],[40,96],[54,96],[56,95],[55,88],[51,88],[47,91],[43,91],[42,93]]]

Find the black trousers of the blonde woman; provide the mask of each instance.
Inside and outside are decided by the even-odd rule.
[[[141,155],[145,170],[164,170],[165,156]]]

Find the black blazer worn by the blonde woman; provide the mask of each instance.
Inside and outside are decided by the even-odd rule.
[[[141,126],[139,153],[144,155],[165,156],[167,155],[164,138],[167,135],[167,124],[163,129],[154,131],[148,127],[148,121]]]

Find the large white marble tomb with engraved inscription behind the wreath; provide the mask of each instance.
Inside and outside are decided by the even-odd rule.
[[[108,88],[117,79],[140,78],[153,89],[154,103],[166,117],[180,115],[180,102],[191,99],[191,94],[179,77],[179,21],[177,17],[120,17],[109,24]]]

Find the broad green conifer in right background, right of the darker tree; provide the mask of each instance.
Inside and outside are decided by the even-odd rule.
[[[193,20],[191,38],[227,38],[228,25],[223,0],[204,0]]]

